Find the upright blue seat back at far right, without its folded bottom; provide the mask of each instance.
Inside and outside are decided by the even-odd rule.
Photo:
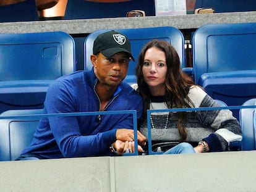
[[[208,24],[198,28],[192,40],[195,82],[203,73],[256,69],[254,43],[256,23]]]

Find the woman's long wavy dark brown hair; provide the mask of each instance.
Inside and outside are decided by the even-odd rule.
[[[163,51],[166,55],[166,94],[165,101],[169,109],[176,107],[191,107],[194,106],[192,101],[189,99],[187,94],[189,89],[194,84],[194,81],[182,72],[181,62],[179,61],[179,55],[176,49],[174,49],[171,44],[162,40],[151,40],[145,46],[143,46],[142,51],[139,54],[139,61],[135,69],[137,75],[138,92],[142,95],[144,102],[144,113],[143,120],[147,119],[147,109],[149,109],[150,102],[150,90],[147,83],[143,80],[142,66],[144,63],[145,52],[152,48],[158,48]],[[179,130],[179,135],[181,141],[185,141],[187,138],[187,130],[185,127],[186,112],[179,112],[179,120],[177,122],[177,128]]]

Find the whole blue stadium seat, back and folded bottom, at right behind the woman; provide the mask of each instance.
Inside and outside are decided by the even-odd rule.
[[[239,106],[256,96],[256,23],[209,24],[195,31],[195,83],[213,99]],[[233,110],[239,119],[239,110]]]

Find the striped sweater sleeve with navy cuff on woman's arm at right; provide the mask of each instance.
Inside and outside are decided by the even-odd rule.
[[[195,104],[195,107],[219,106],[214,99],[198,86],[190,89],[189,98]],[[215,130],[207,138],[202,138],[208,143],[210,151],[228,151],[229,143],[242,140],[239,122],[233,117],[230,110],[198,111],[197,118],[206,128]]]

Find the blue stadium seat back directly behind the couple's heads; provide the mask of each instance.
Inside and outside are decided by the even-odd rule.
[[[84,48],[84,56],[85,56],[85,70],[92,69],[92,62],[90,61],[90,55],[92,54],[93,42],[95,38],[108,30],[97,30],[90,33],[85,39],[85,48]],[[148,41],[153,39],[160,39],[164,41],[168,41],[170,44],[174,46],[176,51],[179,54],[181,60],[182,68],[185,67],[185,56],[184,56],[184,36],[181,31],[174,27],[152,27],[152,28],[130,28],[130,29],[117,29],[120,33],[124,34],[129,38],[130,44],[132,46],[132,55],[134,56],[135,62],[130,61],[129,63],[129,71],[127,73],[127,77],[125,81],[127,83],[136,83],[135,77],[135,66],[137,64],[137,59],[139,57],[140,50],[143,45]]]

